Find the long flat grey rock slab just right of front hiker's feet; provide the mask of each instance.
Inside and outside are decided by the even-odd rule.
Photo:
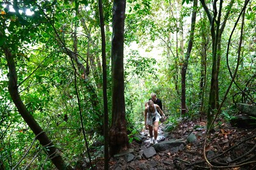
[[[183,144],[183,146],[186,145],[186,141],[181,139],[181,140],[169,140],[169,141],[163,141],[161,143],[154,144],[153,147],[155,148],[155,151],[160,152],[160,151],[166,151],[168,149],[178,147],[180,144]]]

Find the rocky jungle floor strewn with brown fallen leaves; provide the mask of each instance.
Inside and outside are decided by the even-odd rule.
[[[176,129],[164,133],[165,123],[160,123],[158,133],[159,143],[173,140],[187,140],[188,135],[193,132],[196,142],[188,143],[182,151],[172,152],[170,149],[156,152],[152,157],[143,155],[143,148],[150,148],[148,130],[141,134],[146,140],[138,143],[133,141],[130,144],[134,157],[127,160],[127,156],[112,157],[109,161],[109,169],[256,169],[256,129],[232,127],[224,120],[216,121],[215,132],[209,134],[205,145],[205,156],[211,165],[204,158],[205,128],[206,120],[183,120]],[[104,158],[97,158],[96,169],[104,169]],[[88,165],[88,164],[87,164]],[[77,168],[80,169],[80,168]],[[82,168],[82,169],[88,169]]]

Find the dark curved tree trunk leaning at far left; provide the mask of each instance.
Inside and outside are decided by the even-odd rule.
[[[60,156],[60,152],[57,148],[55,148],[52,141],[48,138],[46,133],[41,129],[37,121],[32,117],[29,110],[27,110],[26,106],[24,105],[23,101],[18,92],[18,78],[16,73],[16,66],[14,61],[14,56],[10,52],[10,50],[5,49],[5,56],[7,58],[8,67],[9,67],[9,93],[12,97],[13,103],[15,104],[18,112],[20,113],[21,117],[23,117],[24,121],[26,121],[27,125],[30,129],[34,132],[39,140],[40,144],[46,148],[46,152],[51,159],[52,163],[56,166],[57,169],[72,169],[70,166],[67,166],[66,163],[63,161],[62,157]]]

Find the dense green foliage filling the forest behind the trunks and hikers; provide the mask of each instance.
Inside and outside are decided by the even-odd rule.
[[[182,5],[183,3],[183,5]],[[219,99],[230,84],[227,42],[244,2],[235,1],[222,35],[219,72]],[[227,4],[223,12],[227,10]],[[188,118],[205,114],[210,92],[212,44],[210,27],[199,5],[194,45],[187,70]],[[87,140],[93,149],[103,145],[103,95],[101,36],[97,2],[94,1],[10,1],[0,2],[0,160],[10,169],[29,149],[35,135],[21,118],[10,98],[9,69],[4,50],[12,50],[18,72],[18,90],[35,120],[72,166],[87,160],[79,112],[82,112]],[[222,116],[236,114],[235,103],[255,102],[255,18],[256,3],[246,8],[243,46],[238,52],[241,22],[231,38],[229,66],[233,73],[238,53],[240,66],[235,84],[222,106]],[[107,39],[108,109],[111,110],[110,44],[112,4],[104,2]],[[143,129],[144,103],[151,92],[163,101],[168,121],[180,117],[180,68],[191,22],[190,1],[127,0],[124,80],[127,131]],[[182,46],[182,44],[184,46]],[[68,51],[76,53],[76,59]],[[204,58],[202,66],[202,58]],[[205,72],[201,93],[201,71]],[[77,88],[76,88],[77,87]],[[240,89],[243,89],[244,95]],[[77,101],[80,99],[80,103]],[[80,104],[80,107],[79,107]],[[202,110],[201,110],[202,107]],[[80,109],[79,109],[80,108]],[[112,120],[109,115],[110,122]],[[132,137],[132,135],[129,135]],[[44,148],[35,141],[21,162],[25,168],[51,167]],[[101,153],[99,151],[99,153]],[[98,154],[97,155],[101,155]],[[88,160],[87,160],[88,161]],[[0,163],[1,165],[1,163]]]

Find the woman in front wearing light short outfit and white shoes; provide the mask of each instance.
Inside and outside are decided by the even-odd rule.
[[[158,143],[157,142],[157,135],[158,135],[158,123],[159,119],[161,118],[160,114],[163,115],[163,118],[165,119],[165,114],[163,114],[162,109],[157,104],[154,104],[152,100],[149,100],[148,105],[145,105],[145,111],[144,111],[144,121],[145,121],[145,127],[146,129],[149,128],[149,135],[151,137],[150,143]],[[157,112],[157,110],[160,111],[160,114]],[[154,139],[153,139],[153,127],[154,127]]]

